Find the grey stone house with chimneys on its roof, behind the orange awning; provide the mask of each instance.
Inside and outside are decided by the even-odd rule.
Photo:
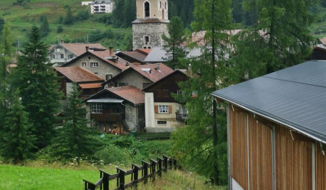
[[[83,54],[62,67],[81,67],[106,81],[128,68],[119,57],[113,54],[113,48],[110,48],[110,51],[85,50]]]

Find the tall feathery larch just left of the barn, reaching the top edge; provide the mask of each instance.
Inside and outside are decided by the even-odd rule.
[[[231,0],[195,0],[194,32],[204,33],[202,55],[188,59],[190,79],[180,83],[176,96],[186,102],[187,126],[172,135],[176,157],[196,172],[227,183],[226,112],[211,93],[230,85]],[[196,42],[194,42],[196,43]],[[197,74],[197,75],[196,75]]]

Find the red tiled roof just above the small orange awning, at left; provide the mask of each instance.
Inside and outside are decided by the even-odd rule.
[[[90,82],[90,81],[103,81],[99,76],[82,69],[81,67],[55,67],[55,70],[64,75],[73,82]]]

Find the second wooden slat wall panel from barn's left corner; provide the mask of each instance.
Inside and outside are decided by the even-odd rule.
[[[249,113],[250,190],[272,190],[271,128],[257,123]]]

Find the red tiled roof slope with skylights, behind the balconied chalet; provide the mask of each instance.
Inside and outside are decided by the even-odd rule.
[[[139,65],[139,66],[132,67],[132,69],[134,69],[135,71],[137,71],[138,73],[140,73],[141,75],[148,78],[149,80],[151,80],[154,83],[159,81],[166,75],[174,72],[173,69],[167,67],[163,63],[160,63],[161,72],[159,72],[157,70],[158,65],[159,65],[159,63],[158,64],[150,64],[150,65]],[[151,74],[143,71],[142,69],[151,69]]]

